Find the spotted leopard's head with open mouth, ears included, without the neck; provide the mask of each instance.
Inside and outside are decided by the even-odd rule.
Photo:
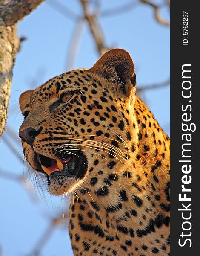
[[[98,173],[114,177],[128,163],[128,148],[136,154],[135,85],[129,53],[113,49],[91,69],[63,73],[21,94],[23,152],[47,177],[51,194],[92,189]]]

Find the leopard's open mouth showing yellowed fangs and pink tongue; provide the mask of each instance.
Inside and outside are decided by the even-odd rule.
[[[49,180],[58,176],[71,176],[81,179],[87,171],[87,160],[81,151],[65,154],[52,159],[36,153],[35,163],[40,172],[45,172]]]

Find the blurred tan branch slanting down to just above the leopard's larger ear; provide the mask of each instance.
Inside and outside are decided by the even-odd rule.
[[[102,33],[102,30],[100,29],[100,25],[97,21],[97,17],[95,15],[92,15],[89,12],[89,2],[87,0],[80,0],[80,3],[83,7],[84,16],[85,16],[85,19],[88,21],[89,28],[90,28],[91,34],[93,35],[94,41],[96,43],[99,55],[102,55],[103,53],[108,51],[109,48],[106,47],[104,44],[103,33]]]

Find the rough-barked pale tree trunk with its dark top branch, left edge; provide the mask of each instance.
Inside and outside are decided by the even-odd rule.
[[[12,70],[20,47],[16,23],[44,0],[0,0],[0,138],[5,128]]]

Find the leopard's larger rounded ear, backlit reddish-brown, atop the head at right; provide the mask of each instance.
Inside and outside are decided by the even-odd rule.
[[[112,49],[106,52],[89,71],[98,73],[106,80],[120,85],[127,96],[130,94],[131,87],[136,85],[134,63],[130,54],[124,49]]]

